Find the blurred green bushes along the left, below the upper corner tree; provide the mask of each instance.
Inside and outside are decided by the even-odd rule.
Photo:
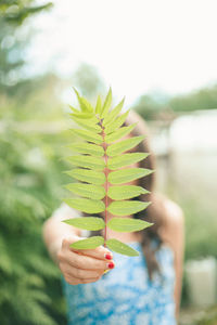
[[[41,84],[44,83],[43,80]],[[43,94],[46,90],[40,92],[37,81],[34,93],[25,98],[22,106],[17,99],[14,101],[8,99],[7,94],[0,94],[2,325],[66,324],[60,271],[48,257],[41,238],[41,225],[63,195],[60,188],[64,181],[61,174],[64,165],[59,155],[65,136],[49,132],[39,134],[36,129],[37,119],[40,121],[37,116],[40,107],[36,110],[35,103],[42,101],[48,104],[50,116],[52,106],[52,118],[60,105],[58,102],[55,105],[49,103]],[[43,115],[44,119],[47,114]],[[48,129],[47,122],[46,127]]]

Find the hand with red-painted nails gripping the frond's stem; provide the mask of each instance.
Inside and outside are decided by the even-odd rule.
[[[95,249],[74,249],[69,245],[80,237],[73,236],[62,240],[56,258],[65,281],[71,285],[95,282],[105,270],[115,266],[112,252],[103,246]],[[107,259],[106,259],[107,257]]]

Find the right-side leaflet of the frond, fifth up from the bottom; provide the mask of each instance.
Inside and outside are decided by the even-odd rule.
[[[110,172],[107,180],[111,184],[123,184],[145,177],[152,172],[154,172],[154,170],[146,168],[120,169]]]

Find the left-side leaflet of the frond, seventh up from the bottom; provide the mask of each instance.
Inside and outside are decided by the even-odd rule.
[[[86,143],[86,142],[73,143],[73,144],[68,144],[67,147],[69,147],[71,150],[79,154],[87,154],[97,157],[104,156],[103,147],[101,145],[97,145],[92,143]]]

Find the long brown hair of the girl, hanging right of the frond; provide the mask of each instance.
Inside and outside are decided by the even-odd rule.
[[[133,110],[130,110],[124,126],[129,126],[133,122],[137,122],[137,125],[135,129],[131,131],[131,135],[132,136],[142,135],[142,134],[145,135],[144,140],[140,142],[139,145],[137,145],[137,147],[133,148],[133,151],[150,153],[150,155],[145,159],[139,162],[139,167],[155,169],[155,158],[150,148],[150,140],[149,140],[150,135],[149,135],[146,123],[139,114],[137,114]],[[140,196],[131,199],[152,203],[145,210],[137,212],[132,216],[135,219],[141,219],[154,223],[152,226],[137,232],[142,234],[142,242],[141,242],[142,251],[146,260],[149,277],[150,280],[152,280],[153,273],[155,271],[161,272],[159,265],[155,258],[155,252],[157,249],[159,249],[161,245],[163,244],[163,238],[161,236],[161,227],[164,224],[166,210],[164,206],[163,196],[155,193],[155,188],[154,188],[155,172],[145,176],[143,178],[140,178],[138,180],[137,185],[142,186],[145,190],[151,192],[149,194],[141,194]],[[85,216],[87,216],[87,213],[85,213]],[[98,214],[98,217],[102,218],[101,214]],[[90,233],[90,236],[99,235],[99,234],[101,234],[101,231],[98,232],[94,231]],[[153,245],[153,240],[155,245]]]

